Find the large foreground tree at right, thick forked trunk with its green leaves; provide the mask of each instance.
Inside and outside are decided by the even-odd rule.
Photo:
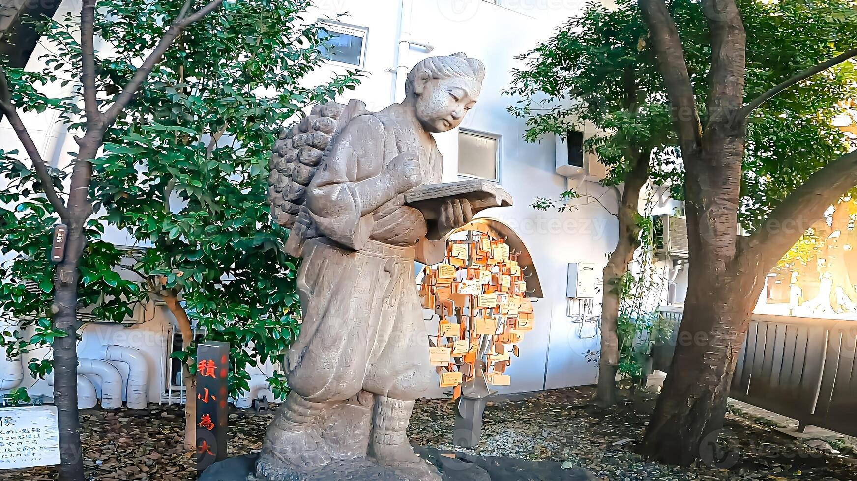
[[[703,440],[722,427],[765,275],[857,185],[855,145],[830,124],[857,95],[857,4],[702,0],[693,18],[681,2],[638,6],[685,168],[691,262],[679,336],[703,340],[676,347],[641,449],[689,465],[714,447]],[[704,33],[698,44],[693,32]]]

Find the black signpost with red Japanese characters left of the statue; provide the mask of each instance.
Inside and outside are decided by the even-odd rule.
[[[226,459],[228,374],[229,344],[201,342],[196,347],[196,469],[199,471]]]

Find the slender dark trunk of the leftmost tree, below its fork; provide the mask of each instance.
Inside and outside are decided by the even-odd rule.
[[[78,262],[85,240],[81,223],[69,225],[66,257],[57,265],[54,283],[53,324],[67,336],[57,337],[53,348],[54,404],[57,406],[61,481],[83,481],[81,419],[77,410],[77,282]]]

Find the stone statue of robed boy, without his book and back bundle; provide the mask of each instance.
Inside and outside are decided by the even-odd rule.
[[[301,206],[312,224],[297,279],[303,327],[285,366],[291,393],[268,428],[257,476],[287,479],[368,457],[400,478],[439,479],[405,435],[432,378],[414,260],[440,262],[446,235],[472,213],[465,199],[446,201],[428,225],[403,193],[440,182],[432,133],[458,126],[484,73],[463,53],[427,58],[408,74],[401,104],[355,116],[335,134]]]

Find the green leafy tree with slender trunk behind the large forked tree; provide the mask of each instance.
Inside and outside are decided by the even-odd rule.
[[[752,92],[764,92],[773,81],[836,55],[842,48],[836,42],[854,27],[853,9],[849,10],[853,3],[848,0],[739,4],[749,12],[744,18],[747,34],[757,39],[748,45],[746,56],[747,68],[754,73],[746,79]],[[527,140],[538,140],[542,134],[565,135],[584,122],[594,125],[599,134],[589,146],[610,168],[605,185],[624,184],[616,216],[619,241],[604,270],[598,389],[604,404],[615,400],[614,363],[620,360],[619,346],[628,344],[615,334],[615,319],[620,318],[625,294],[620,280],[642,239],[639,189],[646,182],[666,185],[675,199],[685,199],[686,161],[648,24],[636,2],[621,1],[617,7],[590,5],[560,27],[554,38],[521,56],[525,67],[516,72],[509,91],[520,96],[510,111],[526,119]],[[669,3],[680,28],[688,81],[698,98],[705,98],[710,80],[710,32],[704,8],[711,7],[693,0]],[[819,20],[807,26],[800,18]],[[800,32],[795,34],[793,27],[799,23]],[[852,92],[854,68],[845,64],[752,109],[736,209],[747,229],[756,229],[808,175],[848,152],[848,139],[830,120],[842,113],[841,101]],[[640,162],[648,152],[648,162]],[[563,196],[573,199],[576,193]],[[536,200],[536,207],[555,204]]]

